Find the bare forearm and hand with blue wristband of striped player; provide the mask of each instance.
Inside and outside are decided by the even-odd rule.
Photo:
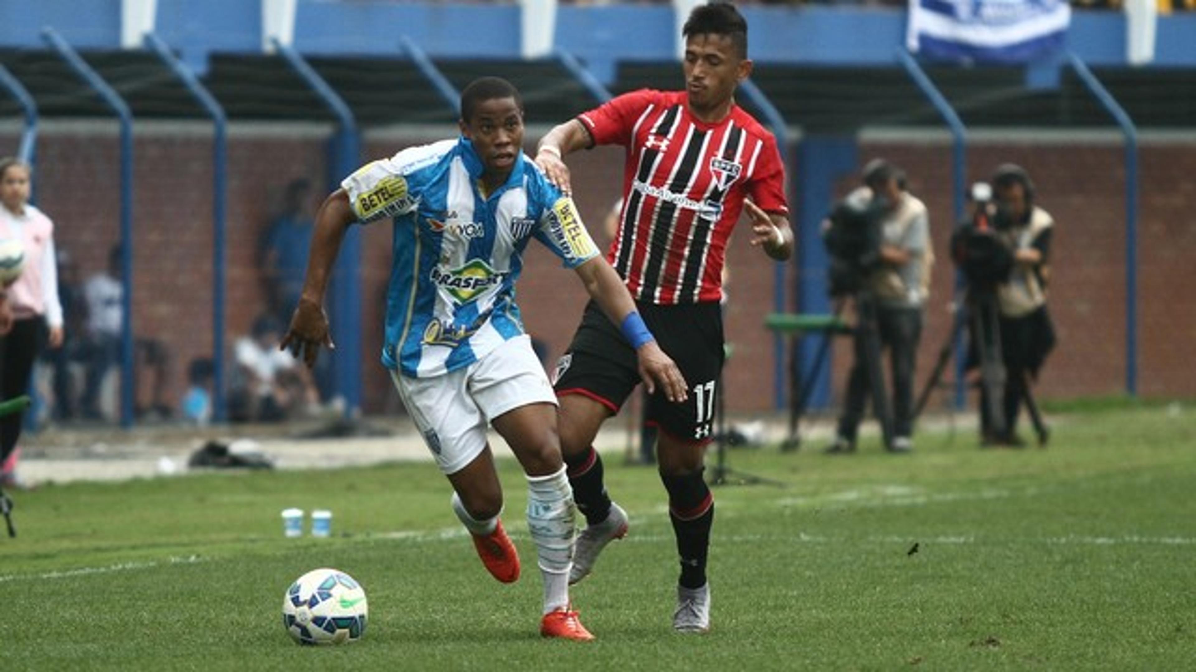
[[[593,257],[576,269],[586,292],[593,298],[611,322],[618,324],[640,360],[640,378],[648,392],[655,392],[657,384],[670,402],[684,402],[688,396],[685,378],[657,344],[657,340],[643,325],[635,310],[635,301],[627,286],[605,258]]]

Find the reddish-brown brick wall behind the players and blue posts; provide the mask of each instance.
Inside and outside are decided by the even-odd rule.
[[[175,359],[171,381],[177,397],[185,365],[212,347],[212,142],[203,124],[139,124],[135,140],[134,230],[138,237],[134,294],[139,335],[165,341]],[[450,130],[451,132],[451,130]],[[325,175],[324,129],[309,126],[237,126],[228,148],[228,305],[227,344],[249,330],[263,305],[254,267],[258,234],[293,177],[316,184]],[[7,147],[16,134],[0,133]],[[407,142],[395,135],[371,136],[365,158],[389,155]],[[120,222],[118,142],[115,124],[44,124],[38,142],[37,196],[57,225],[57,243],[79,263],[84,276],[103,268],[117,240]],[[927,313],[919,381],[928,374],[947,337],[945,305],[952,269],[946,242],[952,202],[950,146],[940,140],[868,141],[861,157],[884,155],[904,166],[910,189],[932,213],[938,256],[934,295]],[[969,146],[969,172],[987,176],[1002,161],[1025,166],[1050,210],[1055,234],[1051,310],[1060,348],[1048,362],[1041,396],[1116,393],[1124,384],[1124,201],[1122,149],[1116,139],[1035,141]],[[599,244],[602,221],[618,197],[622,152],[603,148],[570,160],[582,215]],[[1147,142],[1141,149],[1139,219],[1140,391],[1147,396],[1196,396],[1196,375],[1184,346],[1196,334],[1196,143]],[[850,187],[844,179],[841,190]],[[378,365],[382,303],[389,273],[388,225],[366,228],[362,259],[365,404],[370,411],[397,411],[399,403]],[[550,356],[568,346],[585,303],[573,274],[538,245],[529,248],[519,303],[531,332]],[[748,244],[746,228],[731,240],[727,336],[734,356],[727,368],[728,409],[771,408],[771,336],[762,326],[771,311],[774,265]],[[793,277],[789,269],[789,277]],[[791,280],[792,285],[792,280]],[[792,294],[792,292],[791,292]],[[847,366],[846,343],[835,358],[836,389]]]

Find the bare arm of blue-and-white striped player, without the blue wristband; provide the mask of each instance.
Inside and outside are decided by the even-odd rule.
[[[307,257],[307,275],[304,277],[303,294],[299,305],[291,316],[291,326],[282,337],[280,349],[301,359],[309,368],[316,366],[316,355],[321,346],[335,349],[332,336],[328,330],[328,314],[324,313],[324,293],[328,291],[328,279],[341,251],[341,242],[349,225],[358,215],[349,206],[349,197],[343,189],[337,189],[324,198],[316,213],[316,230],[311,236],[311,253]]]

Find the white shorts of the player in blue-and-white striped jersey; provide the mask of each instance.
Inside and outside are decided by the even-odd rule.
[[[407,411],[443,474],[456,474],[486,447],[490,420],[527,404],[556,404],[531,337],[517,336],[465,368],[434,378],[390,372]]]

